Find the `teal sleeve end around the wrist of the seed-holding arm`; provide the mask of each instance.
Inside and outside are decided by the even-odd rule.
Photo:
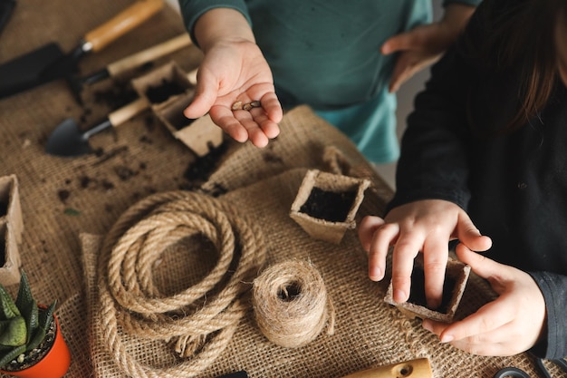
[[[203,15],[205,12],[210,11],[211,9],[215,8],[231,8],[239,11],[242,13],[246,20],[248,20],[249,24],[252,24],[250,20],[250,15],[248,15],[248,8],[246,7],[244,0],[178,0],[179,1],[179,9],[181,11],[181,15],[183,16],[183,21],[185,23],[185,28],[187,32],[191,36],[191,40],[193,44],[197,44],[197,40],[195,39],[195,23],[197,23],[197,19]]]

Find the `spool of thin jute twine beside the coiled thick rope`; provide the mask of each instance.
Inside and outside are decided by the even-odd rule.
[[[311,343],[328,322],[334,333],[334,308],[322,276],[311,263],[284,261],[255,278],[253,306],[256,325],[280,346],[297,348]]]

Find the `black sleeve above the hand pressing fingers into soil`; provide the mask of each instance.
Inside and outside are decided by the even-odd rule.
[[[466,208],[468,161],[466,93],[471,79],[455,48],[431,69],[401,141],[396,194],[387,210],[420,199],[445,199]]]

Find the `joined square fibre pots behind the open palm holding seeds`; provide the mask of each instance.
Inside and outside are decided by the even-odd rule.
[[[191,74],[170,62],[132,80],[132,86],[149,101],[151,111],[168,131],[200,157],[222,144],[224,133],[208,114],[197,120],[183,115],[195,95]]]

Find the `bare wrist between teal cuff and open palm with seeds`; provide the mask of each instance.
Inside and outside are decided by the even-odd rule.
[[[219,41],[255,42],[252,28],[245,16],[231,8],[215,8],[201,15],[195,24],[194,34],[197,44],[204,52]]]

